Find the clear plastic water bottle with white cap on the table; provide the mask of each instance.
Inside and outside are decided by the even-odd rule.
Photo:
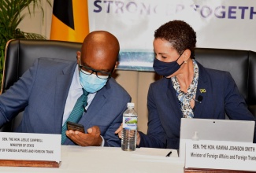
[[[134,103],[128,103],[127,108],[123,114],[122,150],[135,151],[138,115]]]

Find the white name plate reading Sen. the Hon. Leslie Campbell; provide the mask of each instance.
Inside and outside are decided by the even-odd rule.
[[[61,161],[61,134],[0,133],[0,160]]]

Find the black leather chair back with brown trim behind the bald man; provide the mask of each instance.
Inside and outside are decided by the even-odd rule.
[[[80,51],[82,43],[54,40],[13,39],[6,44],[6,57],[3,69],[1,94],[16,83],[21,75],[30,68],[39,57],[58,58],[76,61],[76,51]],[[22,112],[0,131],[13,131],[20,124]]]

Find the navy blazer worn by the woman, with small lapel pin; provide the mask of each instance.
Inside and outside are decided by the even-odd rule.
[[[225,119],[226,113],[233,120],[254,120],[229,72],[203,68],[199,63],[198,68],[195,98],[201,95],[202,101],[195,101],[195,118]],[[139,146],[178,149],[183,115],[171,79],[163,78],[150,85],[147,107],[148,131],[147,135],[139,132]]]

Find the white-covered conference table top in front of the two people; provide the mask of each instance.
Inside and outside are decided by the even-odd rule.
[[[169,157],[166,155],[172,151]],[[0,167],[0,172],[184,172],[175,149],[61,145],[60,167]]]

